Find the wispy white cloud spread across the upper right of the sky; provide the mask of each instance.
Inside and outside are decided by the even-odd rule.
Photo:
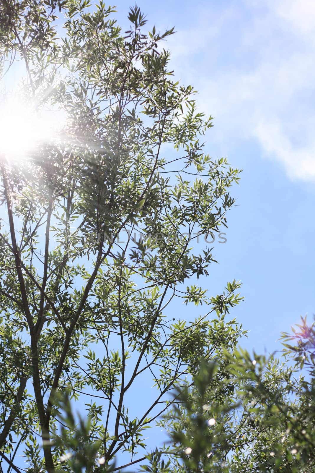
[[[266,0],[262,7],[244,0],[210,17],[211,35],[203,13],[198,40],[192,31],[174,36],[180,44],[174,67],[197,85],[201,108],[216,118],[217,137],[221,128],[223,141],[230,134],[255,138],[291,179],[315,181],[315,2]],[[187,69],[194,54],[204,62]]]

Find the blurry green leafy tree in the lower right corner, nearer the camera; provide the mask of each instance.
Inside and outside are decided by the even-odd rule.
[[[292,335],[281,338],[280,358],[227,352],[201,363],[193,385],[179,388],[161,421],[173,446],[167,471],[314,471],[314,324],[302,318]],[[218,382],[221,363],[227,376]],[[151,464],[160,456],[150,457]]]

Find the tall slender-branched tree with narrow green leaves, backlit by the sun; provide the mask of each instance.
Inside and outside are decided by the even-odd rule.
[[[173,30],[145,34],[135,7],[122,33],[112,13],[88,0],[0,6],[1,70],[8,80],[22,59],[14,118],[26,116],[0,149],[0,455],[8,471],[21,471],[20,454],[29,473],[54,472],[60,458],[65,471],[119,470],[121,452],[126,464],[145,464],[144,429],[176,386],[201,359],[233,352],[244,333],[225,321],[240,300],[238,282],[208,298],[197,280],[214,259],[195,245],[226,225],[238,170],[204,152],[199,140],[212,117],[168,68],[162,40]],[[62,129],[26,147],[47,110]],[[22,133],[30,120],[36,126]],[[206,309],[188,323],[173,317],[182,307],[175,300]],[[215,376],[226,377],[224,364]],[[129,392],[136,385],[141,396],[152,379],[150,403],[130,417]],[[75,402],[87,423],[73,417]]]

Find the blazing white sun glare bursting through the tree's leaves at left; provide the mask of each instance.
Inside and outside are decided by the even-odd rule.
[[[0,156],[20,162],[57,136],[60,117],[50,110],[37,111],[17,97],[0,104]]]

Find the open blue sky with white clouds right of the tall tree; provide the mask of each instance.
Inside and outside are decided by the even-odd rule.
[[[249,331],[241,345],[281,349],[280,333],[315,312],[315,3],[307,0],[138,1],[163,32],[174,76],[214,117],[213,158],[243,169],[231,194],[227,242],[202,281],[209,295],[242,282],[231,310]],[[129,1],[117,1],[123,27]]]

